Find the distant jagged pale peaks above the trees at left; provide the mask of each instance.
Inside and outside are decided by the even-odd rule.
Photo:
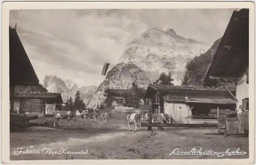
[[[63,102],[66,102],[70,97],[75,100],[76,91],[80,90],[81,98],[85,104],[89,103],[97,89],[97,86],[95,85],[78,87],[71,80],[63,81],[61,78],[54,75],[46,75],[43,86],[48,90],[48,92],[61,93]]]

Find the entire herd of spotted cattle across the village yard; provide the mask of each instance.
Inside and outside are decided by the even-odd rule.
[[[110,113],[113,113],[111,111]],[[67,119],[68,120],[68,126],[70,126],[70,120],[75,119],[75,117],[80,116],[82,119],[90,119],[92,120],[93,118],[95,119],[96,122],[98,122],[98,117],[100,116],[103,119],[103,123],[108,123],[109,120],[109,113],[104,112],[104,113],[99,113],[99,109],[96,109],[94,112],[87,112],[87,111],[82,111],[81,113],[79,110],[76,111],[54,111],[53,112],[53,126],[55,127],[55,123],[57,122],[60,126],[60,119]],[[135,130],[134,131],[139,131],[140,130],[140,124],[141,121],[148,122],[148,119],[150,118],[150,115],[146,113],[145,115],[140,115],[138,113],[132,113],[127,115],[126,120],[127,120],[127,125],[129,126],[129,131],[131,131],[131,126],[132,124],[135,124]],[[173,117],[169,114],[165,113],[160,113],[160,114],[152,114],[152,123],[177,123],[174,121]]]

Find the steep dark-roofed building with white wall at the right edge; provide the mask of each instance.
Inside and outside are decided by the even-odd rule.
[[[206,86],[234,83],[237,109],[249,98],[249,9],[234,11],[207,75]],[[231,94],[230,94],[231,95]]]

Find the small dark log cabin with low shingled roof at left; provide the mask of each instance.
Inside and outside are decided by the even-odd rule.
[[[14,112],[52,115],[62,108],[61,93],[51,92],[16,92],[14,95]]]

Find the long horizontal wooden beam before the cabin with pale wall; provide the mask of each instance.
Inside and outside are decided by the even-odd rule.
[[[200,128],[200,127],[215,127],[218,128],[218,124],[159,124],[159,123],[141,123],[141,127],[189,127],[189,128]]]

